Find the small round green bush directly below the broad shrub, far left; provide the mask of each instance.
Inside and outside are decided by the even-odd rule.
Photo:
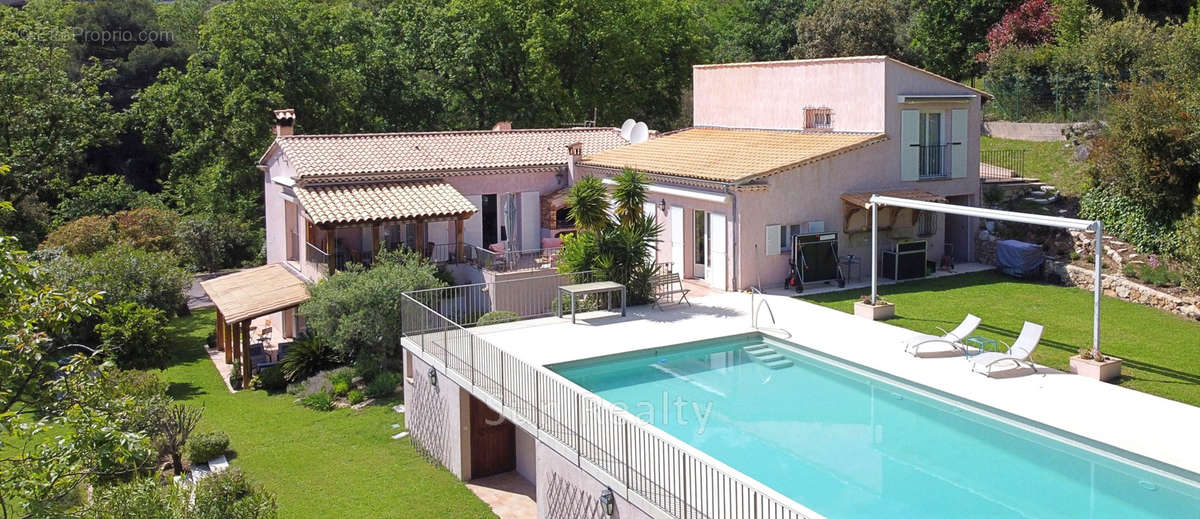
[[[104,350],[121,368],[162,369],[167,365],[167,316],[133,302],[109,305],[96,324]]]

